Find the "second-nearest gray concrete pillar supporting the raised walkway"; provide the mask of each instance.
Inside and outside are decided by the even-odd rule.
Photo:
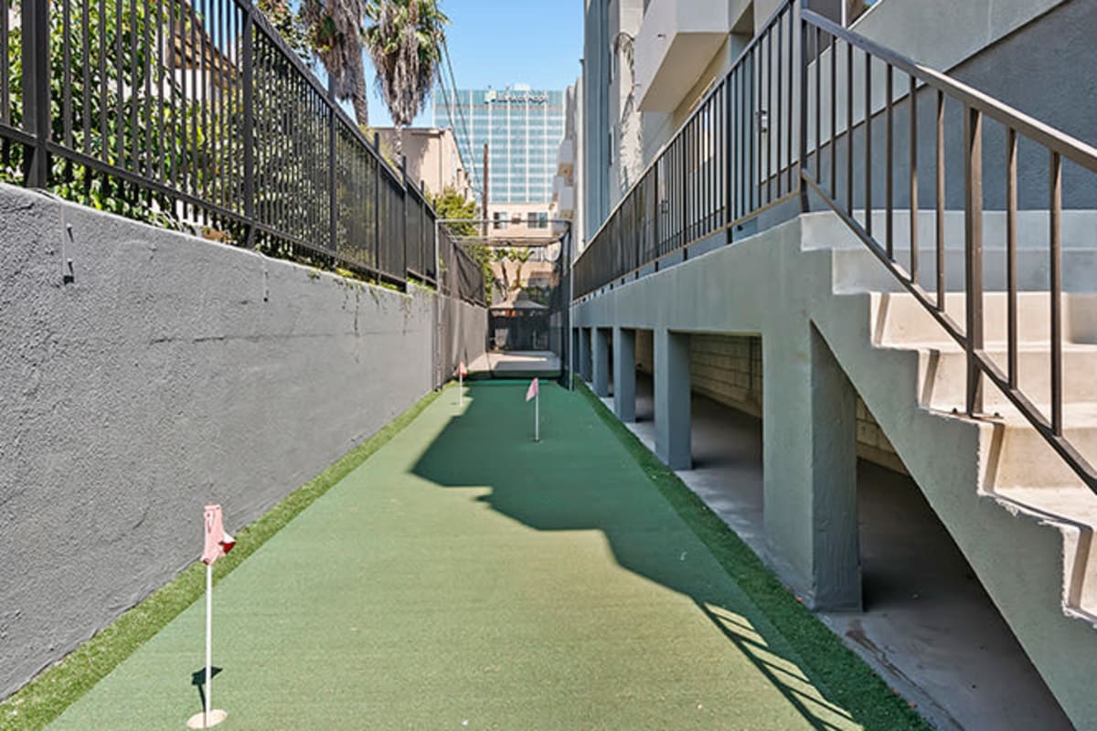
[[[689,334],[659,329],[655,339],[655,454],[671,469],[689,469]]]

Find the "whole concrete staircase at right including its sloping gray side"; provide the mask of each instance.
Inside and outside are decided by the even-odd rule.
[[[1095,218],[1075,217],[1064,250],[1064,272],[1072,275],[1063,302],[1064,433],[1092,462],[1097,462]],[[812,310],[813,322],[1049,687],[1079,728],[1097,728],[1086,699],[1097,672],[1097,495],[993,385],[984,386],[986,414],[964,415],[960,346],[913,296],[900,292],[836,217],[811,214],[801,222],[802,253],[832,275],[830,296]],[[950,289],[953,277],[963,275],[955,253],[963,239],[954,235],[954,224],[949,222],[947,239],[952,242],[947,261],[957,261],[948,272]],[[931,269],[932,251],[921,253]],[[988,254],[995,258],[993,245]],[[907,256],[903,242],[896,259]],[[1040,274],[1038,261],[1033,255],[1034,274],[1018,297],[1019,387],[1050,415],[1050,296],[1039,289],[1045,272]],[[1007,302],[994,285],[988,277],[986,352],[1005,370]],[[946,311],[963,322],[962,293],[947,295]],[[849,320],[858,327],[850,328]]]

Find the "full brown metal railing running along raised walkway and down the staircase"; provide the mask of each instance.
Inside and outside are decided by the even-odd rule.
[[[645,269],[658,271],[671,258],[687,258],[698,241],[726,235],[766,208],[800,196],[808,209],[814,193],[877,255],[893,276],[926,308],[949,338],[964,349],[966,358],[965,411],[983,415],[983,378],[997,387],[1071,469],[1097,492],[1097,470],[1064,436],[1063,419],[1063,311],[1062,209],[1063,163],[1097,173],[1097,148],[1027,115],[968,84],[881,46],[819,14],[788,0],[774,11],[732,68],[703,95],[675,135],[644,168],[637,182],[611,209],[574,265],[575,299],[612,287]],[[788,25],[785,25],[788,23]],[[783,45],[785,28],[789,44]],[[798,30],[794,33],[793,30]],[[777,55],[773,55],[774,39]],[[828,43],[824,46],[824,41]],[[838,130],[839,44],[845,46],[847,80],[841,108],[846,128]],[[823,135],[822,96],[824,52],[829,49],[829,137]],[[863,62],[863,118],[855,117],[855,53]],[[782,68],[788,62],[788,73]],[[873,106],[873,71],[884,71],[885,100]],[[810,90],[814,75],[815,95]],[[905,75],[908,90],[896,94],[895,76]],[[879,79],[878,79],[879,80]],[[901,78],[902,81],[902,78]],[[787,84],[787,85],[785,85]],[[776,93],[774,93],[776,92]],[[879,95],[879,92],[878,92]],[[936,95],[937,213],[935,261],[936,296],[919,284],[918,253],[918,96]],[[776,104],[774,104],[776,99]],[[965,317],[959,322],[946,312],[945,260],[945,108],[946,100],[964,110],[964,266]],[[814,101],[814,110],[808,108]],[[930,99],[930,102],[934,100]],[[792,119],[800,105],[800,119]],[[783,106],[787,104],[787,106]],[[909,207],[909,266],[895,260],[895,134],[896,110],[909,114],[907,195]],[[815,141],[808,145],[814,112]],[[785,113],[788,118],[785,118]],[[987,354],[983,333],[983,123],[993,119],[1006,129],[1007,170],[1007,365]],[[882,123],[882,124],[881,124]],[[873,127],[882,126],[882,135]],[[776,127],[776,134],[774,134]],[[879,135],[879,136],[878,136]],[[883,139],[881,140],[880,137]],[[838,187],[839,139],[846,142],[845,190]],[[1019,386],[1018,347],[1018,140],[1044,148],[1049,159],[1048,215],[1050,240],[1050,359],[1051,404],[1045,415]],[[794,147],[794,142],[799,144]],[[863,169],[855,170],[853,144],[863,146]],[[873,155],[884,148],[882,156]],[[823,180],[824,152],[829,152],[829,181]],[[880,157],[883,158],[881,163]],[[814,163],[814,164],[812,164]],[[882,201],[884,230],[873,232],[873,170],[886,165]],[[716,175],[713,169],[719,167]],[[785,189],[785,176],[790,184]],[[863,187],[855,189],[855,178]],[[793,190],[792,180],[795,181]],[[776,194],[774,189],[776,187]],[[862,204],[855,212],[855,196]],[[879,193],[878,193],[879,195]]]

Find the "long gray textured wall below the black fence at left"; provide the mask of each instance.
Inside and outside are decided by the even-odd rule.
[[[248,524],[434,384],[423,289],[7,186],[0,242],[0,697],[194,561],[205,503]]]

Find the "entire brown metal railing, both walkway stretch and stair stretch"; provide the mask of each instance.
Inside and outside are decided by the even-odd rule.
[[[575,263],[575,294],[581,300],[689,259],[702,241],[733,243],[733,229],[778,204],[792,208],[787,219],[815,202],[964,349],[968,414],[982,413],[988,380],[1097,491],[1097,471],[1064,436],[1062,382],[1063,208],[1093,207],[1095,173],[1097,149],[788,0],[591,238]],[[926,199],[931,232],[919,230]],[[1043,404],[1019,384],[1019,208],[1047,217],[1047,261],[1028,277],[1042,276],[1050,297]],[[1005,218],[1004,363],[984,333],[992,209]],[[963,220],[963,322],[945,306],[949,212]],[[921,248],[931,249],[928,267]]]

